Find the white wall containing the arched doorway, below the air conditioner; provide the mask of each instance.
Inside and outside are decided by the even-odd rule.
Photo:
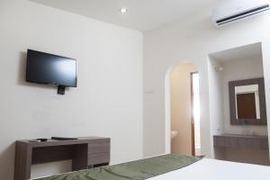
[[[188,21],[187,21],[188,20]],[[266,92],[270,91],[270,14],[216,29],[209,12],[197,12],[183,20],[144,33],[144,155],[166,151],[167,69],[181,61],[192,60],[200,72],[202,154],[212,156],[208,94],[208,54],[262,41]],[[268,124],[270,94],[266,93]],[[154,124],[154,126],[153,126]],[[269,126],[270,127],[270,126]],[[270,131],[270,130],[268,130]]]

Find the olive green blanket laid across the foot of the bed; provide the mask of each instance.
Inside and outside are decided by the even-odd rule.
[[[52,175],[37,180],[144,180],[166,174],[200,160],[200,157],[163,155],[120,165],[96,167],[62,175]]]

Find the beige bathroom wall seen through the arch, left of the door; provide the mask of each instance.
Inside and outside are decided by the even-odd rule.
[[[170,75],[171,130],[178,131],[171,141],[172,153],[192,155],[191,73],[196,71],[193,63],[183,63]]]

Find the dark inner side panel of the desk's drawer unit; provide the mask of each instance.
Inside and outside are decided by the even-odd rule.
[[[72,171],[87,168],[88,144],[78,144],[74,147],[74,157],[72,159]]]

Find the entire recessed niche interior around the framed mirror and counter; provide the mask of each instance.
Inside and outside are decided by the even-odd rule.
[[[254,53],[245,53],[247,47],[228,49],[210,55],[209,79],[211,129],[213,135],[221,133],[266,135],[267,126],[231,125],[229,112],[229,81],[264,76],[261,44],[253,45]],[[259,47],[259,48],[257,48]],[[249,55],[249,56],[248,56]],[[211,139],[212,140],[212,139]],[[212,147],[213,148],[213,147]],[[249,148],[213,148],[214,157],[235,162],[269,165],[268,150]]]

